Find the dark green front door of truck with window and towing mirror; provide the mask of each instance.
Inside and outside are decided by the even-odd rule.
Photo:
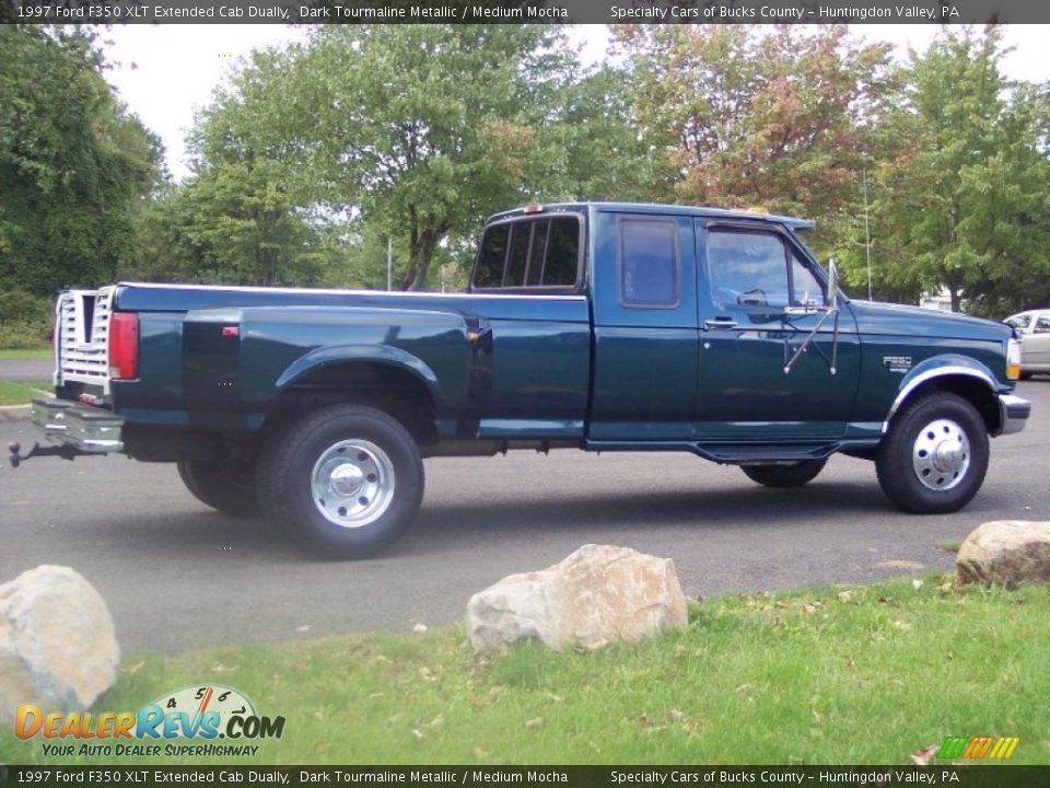
[[[822,271],[793,234],[765,221],[697,219],[697,436],[711,440],[838,438],[852,417],[860,345],[840,304],[838,340],[821,317]],[[837,347],[836,347],[837,346]],[[833,366],[832,366],[833,361]]]

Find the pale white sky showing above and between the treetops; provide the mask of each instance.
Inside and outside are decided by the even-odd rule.
[[[871,42],[886,40],[903,57],[908,47],[922,51],[938,26],[853,25],[852,32]],[[1050,25],[1004,25],[1004,39],[1014,50],[1003,62],[1016,80],[1050,80],[1050,60],[1045,56]],[[128,108],[164,142],[167,169],[176,181],[189,175],[185,137],[197,112],[206,107],[212,91],[253,49],[302,40],[302,27],[271,24],[247,25],[119,25],[106,38],[106,54],[115,66],[106,79]],[[576,25],[571,32],[588,61],[605,51],[605,25]]]

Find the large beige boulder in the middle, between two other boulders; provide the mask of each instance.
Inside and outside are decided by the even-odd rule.
[[[511,575],[467,604],[470,642],[482,652],[523,638],[594,648],[686,623],[675,563],[609,545],[585,545],[549,569]]]

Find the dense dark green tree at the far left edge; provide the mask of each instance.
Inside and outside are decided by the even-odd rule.
[[[0,25],[0,289],[97,285],[131,253],[160,143],[101,69],[78,30]]]

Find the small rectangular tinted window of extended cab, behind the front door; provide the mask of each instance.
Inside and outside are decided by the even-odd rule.
[[[619,229],[620,302],[625,306],[677,306],[681,291],[678,225],[622,219]]]

